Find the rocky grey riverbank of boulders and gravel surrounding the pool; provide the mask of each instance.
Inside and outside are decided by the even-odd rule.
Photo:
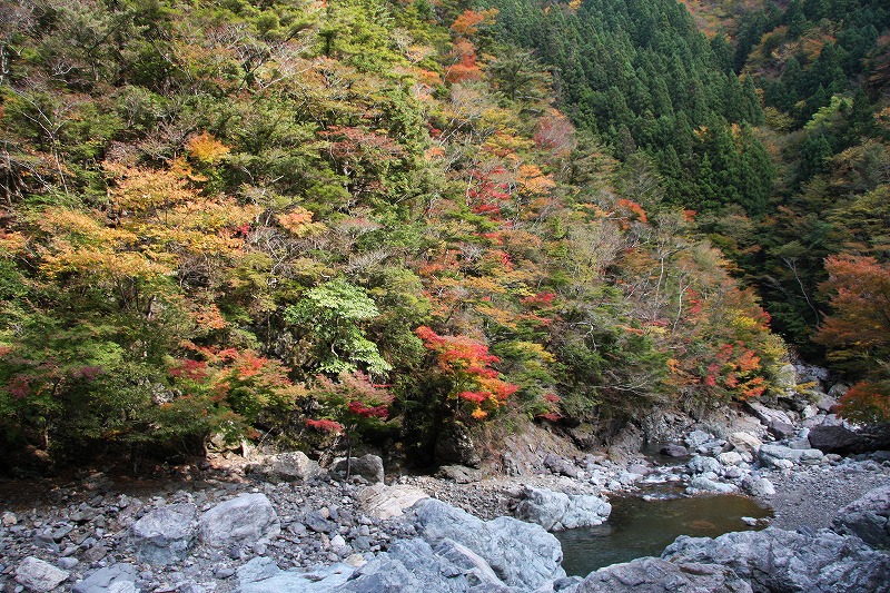
[[[851,431],[818,404],[691,426],[659,458],[543,447],[513,476],[446,466],[385,485],[373,455],[347,480],[343,462],[287,453],[177,480],[7,484],[0,591],[887,590],[890,454],[831,453]],[[665,485],[745,494],[775,516],[762,532],[681,537],[661,559],[566,577],[547,531],[597,525],[610,494]]]

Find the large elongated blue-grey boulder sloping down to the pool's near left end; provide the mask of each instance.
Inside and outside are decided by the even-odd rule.
[[[512,517],[483,522],[434,498],[412,508],[417,533],[429,545],[452,540],[484,559],[507,586],[533,591],[565,576],[560,542],[540,525]]]

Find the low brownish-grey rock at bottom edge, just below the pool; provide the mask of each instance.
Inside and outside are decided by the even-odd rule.
[[[696,562],[643,557],[591,573],[577,593],[749,593],[751,585],[732,570]]]

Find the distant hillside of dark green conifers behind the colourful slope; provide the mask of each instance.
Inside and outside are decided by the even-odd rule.
[[[557,72],[573,121],[698,211],[773,329],[866,382],[848,412],[886,417],[886,2],[494,4],[501,36]]]

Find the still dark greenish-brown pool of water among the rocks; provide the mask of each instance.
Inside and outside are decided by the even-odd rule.
[[[644,500],[614,496],[612,515],[604,525],[554,533],[563,546],[563,567],[570,575],[657,556],[679,535],[716,537],[752,527],[742,517],[763,518],[772,512],[746,496],[732,494]],[[759,522],[762,524],[763,522]]]

